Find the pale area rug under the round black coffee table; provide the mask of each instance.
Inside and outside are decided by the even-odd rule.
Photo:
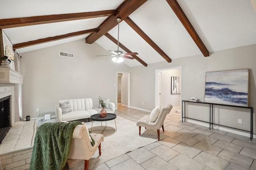
[[[90,131],[92,122],[86,122],[86,125]],[[116,127],[117,131],[115,131]],[[102,131],[100,130],[101,128],[103,129]],[[141,135],[139,136],[139,128],[136,123],[119,116],[116,117],[116,126],[114,120],[102,122],[102,127],[101,122],[94,121],[92,130],[92,133],[103,134],[104,141],[101,143],[101,156],[99,156],[97,150],[90,159],[89,168],[158,140],[156,130],[142,127]],[[168,137],[168,135],[160,133],[160,139],[166,137]],[[67,163],[69,170],[84,170],[84,160],[69,159]]]

